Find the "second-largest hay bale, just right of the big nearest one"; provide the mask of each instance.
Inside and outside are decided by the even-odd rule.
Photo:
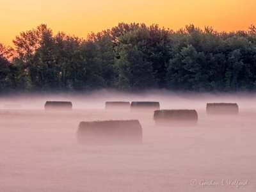
[[[156,110],[154,111],[154,120],[157,125],[196,125],[198,121],[198,115],[194,109]]]

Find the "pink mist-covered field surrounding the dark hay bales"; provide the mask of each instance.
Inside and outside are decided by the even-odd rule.
[[[44,111],[45,100],[73,110]],[[156,127],[152,113],[105,111],[107,100],[156,100],[162,109],[196,109],[196,127]],[[207,102],[237,102],[238,116],[207,116]],[[6,109],[6,108],[21,109]],[[6,106],[8,105],[8,106]],[[0,99],[0,191],[256,191],[256,97],[124,95]],[[143,144],[78,145],[79,122],[138,119]],[[192,181],[191,181],[192,180]],[[195,182],[196,180],[196,182]],[[217,186],[200,184],[215,182]],[[224,180],[225,186],[221,186]],[[248,183],[237,188],[227,180]],[[195,186],[193,186],[195,185]]]

